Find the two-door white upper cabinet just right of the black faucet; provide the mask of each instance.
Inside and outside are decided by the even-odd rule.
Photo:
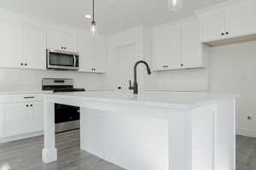
[[[204,68],[206,57],[207,47],[200,42],[198,20],[154,29],[154,71]]]

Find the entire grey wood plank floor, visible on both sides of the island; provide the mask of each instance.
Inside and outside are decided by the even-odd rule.
[[[79,130],[56,134],[56,147],[58,161],[44,164],[42,136],[0,144],[0,169],[9,165],[10,170],[124,170],[79,150]],[[256,139],[236,137],[236,170],[256,170]]]

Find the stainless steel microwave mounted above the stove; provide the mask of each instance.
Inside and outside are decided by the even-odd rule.
[[[68,51],[47,49],[47,69],[55,70],[79,70],[79,54]]]

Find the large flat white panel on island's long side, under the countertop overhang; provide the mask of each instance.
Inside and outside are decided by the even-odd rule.
[[[81,149],[129,170],[169,170],[168,119],[139,115],[82,108]]]

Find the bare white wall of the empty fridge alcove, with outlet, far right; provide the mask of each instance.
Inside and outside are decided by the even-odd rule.
[[[238,133],[256,137],[256,42],[211,48],[210,54],[212,92],[239,94]]]

